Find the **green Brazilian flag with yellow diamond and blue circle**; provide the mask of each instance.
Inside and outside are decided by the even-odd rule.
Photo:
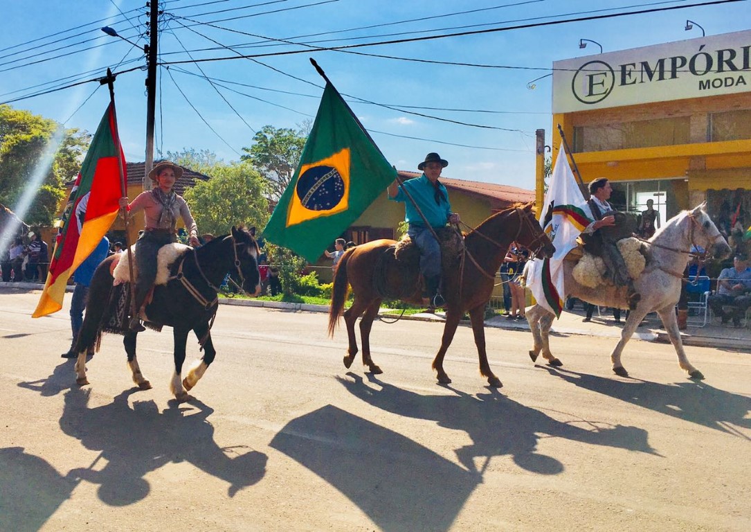
[[[331,83],[264,236],[310,262],[397,178]]]

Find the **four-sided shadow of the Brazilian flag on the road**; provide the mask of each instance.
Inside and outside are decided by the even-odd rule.
[[[430,449],[332,405],[293,419],[270,446],[333,485],[385,532],[448,530],[480,482]]]

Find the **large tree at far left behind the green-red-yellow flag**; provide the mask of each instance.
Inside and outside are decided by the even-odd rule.
[[[15,205],[28,186],[36,186],[31,207],[20,215],[32,225],[52,225],[58,204],[65,198],[65,182],[76,177],[89,141],[86,132],[64,129],[54,120],[0,105],[0,202]],[[35,185],[33,176],[50,143],[59,144],[53,146],[52,164]]]

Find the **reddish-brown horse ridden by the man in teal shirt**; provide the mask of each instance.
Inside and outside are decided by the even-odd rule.
[[[496,271],[506,255],[508,246],[516,240],[542,256],[550,256],[555,251],[547,235],[535,219],[532,203],[511,207],[493,214],[464,239],[465,253],[455,261],[453,270],[445,268],[444,258],[443,296],[446,300],[446,322],[443,329],[441,349],[433,360],[433,369],[438,372],[438,382],[448,384],[451,379],[443,370],[443,358],[454,339],[457,325],[465,312],[469,312],[475,345],[480,358],[480,374],[496,388],[502,386],[490,365],[485,352],[485,305],[493,292]],[[348,355],[344,357],[345,367],[350,367],[357,355],[357,339],[354,336],[354,323],[360,321],[360,335],[363,342],[363,364],[371,373],[383,373],[370,357],[369,335],[373,319],[378,314],[381,301],[388,297],[399,298],[408,303],[422,304],[421,284],[418,283],[416,262],[411,268],[394,258],[395,240],[374,240],[349,249],[339,259],[333,280],[331,308],[329,311],[329,335],[333,336],[339,316],[344,309],[347,287],[351,285],[354,303],[344,312],[349,337]],[[379,259],[382,255],[385,262]],[[449,258],[450,262],[451,259]],[[380,265],[379,265],[380,264]]]

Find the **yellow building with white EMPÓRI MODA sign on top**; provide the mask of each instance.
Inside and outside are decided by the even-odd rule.
[[[553,69],[553,161],[560,125],[584,183],[611,180],[618,210],[640,213],[652,199],[664,222],[707,201],[721,231],[734,218],[751,225],[751,31]]]

